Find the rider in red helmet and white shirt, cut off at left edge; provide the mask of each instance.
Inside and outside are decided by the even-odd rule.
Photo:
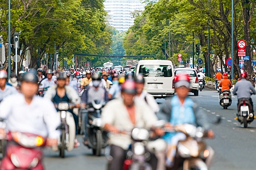
[[[0,70],[0,102],[5,97],[17,93],[17,90],[15,87],[6,85],[7,78],[8,78],[7,72],[5,70]]]

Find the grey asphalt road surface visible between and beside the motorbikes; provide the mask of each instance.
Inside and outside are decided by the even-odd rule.
[[[237,112],[237,98],[232,97],[232,105],[224,110],[219,105],[218,92],[204,89],[199,96],[190,97],[205,110],[211,121],[217,117],[222,118],[218,125],[213,124],[215,138],[207,143],[215,150],[215,158],[211,170],[255,170],[256,157],[256,121],[243,128],[234,120]],[[253,96],[254,105],[256,97]],[[157,99],[157,102],[163,102]],[[79,136],[82,142],[82,136]],[[104,156],[94,156],[92,151],[81,146],[72,152],[66,152],[65,158],[58,157],[50,148],[45,150],[44,164],[47,170],[105,170]],[[103,153],[103,151],[102,151]]]

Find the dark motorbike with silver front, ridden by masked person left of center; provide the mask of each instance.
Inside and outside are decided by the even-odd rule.
[[[107,133],[101,129],[101,110],[104,104],[104,101],[96,100],[86,106],[88,119],[85,122],[85,133],[88,135],[88,143],[85,146],[91,148],[96,156],[101,156],[102,148],[107,146]]]

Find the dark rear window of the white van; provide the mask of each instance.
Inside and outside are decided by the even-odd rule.
[[[171,66],[164,65],[141,65],[139,73],[144,77],[171,77]]]

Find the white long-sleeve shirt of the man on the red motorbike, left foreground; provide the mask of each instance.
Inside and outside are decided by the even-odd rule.
[[[60,118],[53,103],[48,99],[34,96],[28,104],[24,95],[18,93],[5,98],[0,103],[0,110],[0,118],[7,120],[8,131],[32,133],[49,138],[60,136],[60,132],[56,130],[60,125]]]

